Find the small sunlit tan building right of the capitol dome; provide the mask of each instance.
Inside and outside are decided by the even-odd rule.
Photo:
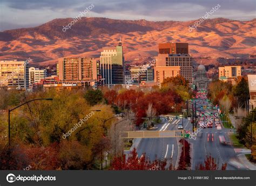
[[[235,84],[235,79],[241,76],[241,66],[221,66],[219,67],[219,80]]]

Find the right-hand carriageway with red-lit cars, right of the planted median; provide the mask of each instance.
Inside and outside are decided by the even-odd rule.
[[[217,112],[208,108],[203,109],[200,104],[198,104],[198,107],[199,109],[197,110],[204,113],[204,120],[206,120],[206,118],[210,120],[210,113],[213,113],[214,115],[214,113]],[[215,116],[215,118],[219,119],[218,116]],[[197,127],[199,128],[199,126]],[[210,155],[217,161],[219,168],[221,168],[222,164],[227,163],[227,170],[244,169],[242,166],[239,166],[241,162],[231,163],[239,162],[234,147],[230,144],[225,145],[220,142],[219,136],[224,136],[225,140],[230,142],[228,136],[229,132],[230,129],[225,129],[222,124],[221,129],[217,129],[214,120],[212,128],[200,129],[196,136],[196,140],[190,140],[190,143],[193,143],[193,170],[198,169],[199,164],[203,164],[206,156]]]

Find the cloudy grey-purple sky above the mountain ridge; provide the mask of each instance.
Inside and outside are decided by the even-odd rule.
[[[219,4],[209,18],[256,18],[256,0],[0,0],[0,31],[76,17],[91,4],[87,17],[186,21],[199,19]]]

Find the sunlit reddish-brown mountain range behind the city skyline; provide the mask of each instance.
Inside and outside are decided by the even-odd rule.
[[[117,20],[109,18],[78,19],[70,29],[63,26],[73,18],[53,19],[48,23],[0,32],[0,60],[26,60],[41,66],[55,64],[64,56],[99,57],[106,46],[122,39],[127,63],[145,63],[157,56],[158,43],[185,42],[193,58],[206,58],[211,64],[219,57],[248,58],[255,55],[256,19],[206,19],[190,30],[198,20],[187,22]],[[191,32],[190,32],[191,31]]]

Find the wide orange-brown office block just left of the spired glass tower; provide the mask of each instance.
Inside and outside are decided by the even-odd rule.
[[[86,85],[100,84],[99,60],[86,57],[60,58],[57,65],[60,81],[84,82]]]

